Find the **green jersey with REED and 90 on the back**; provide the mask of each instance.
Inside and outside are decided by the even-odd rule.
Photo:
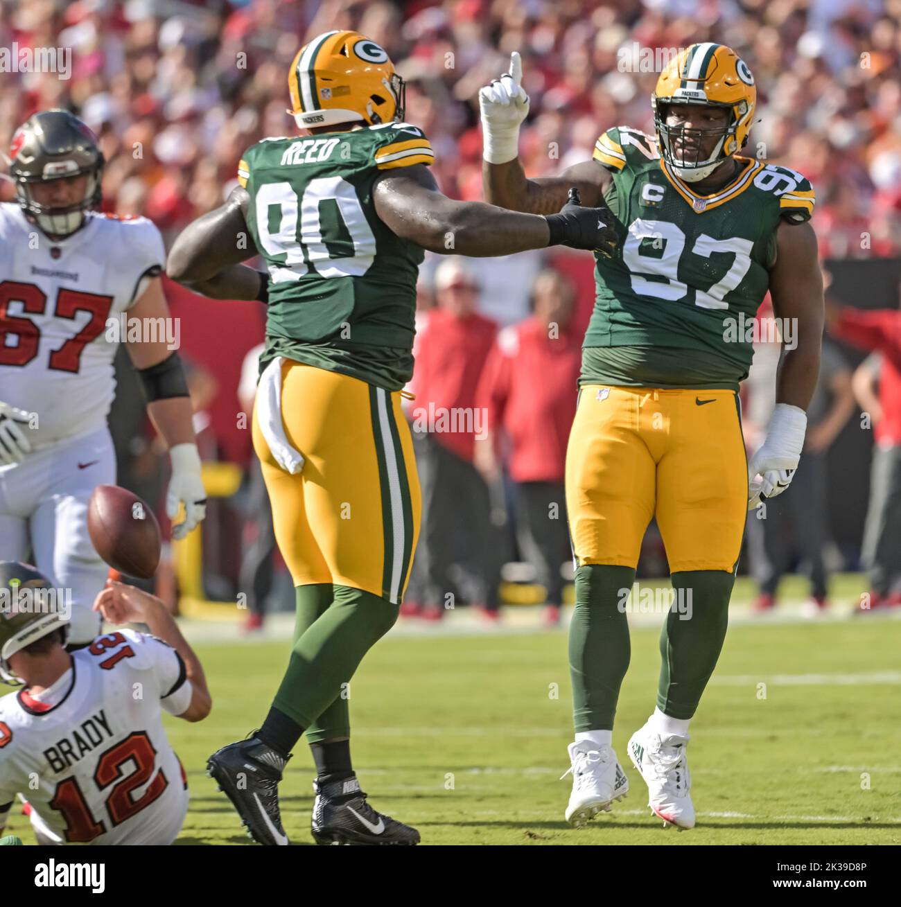
[[[266,347],[275,356],[398,390],[413,374],[416,278],[423,250],[378,218],[380,173],[434,155],[416,126],[264,139],[238,176],[248,228],[269,268]]]

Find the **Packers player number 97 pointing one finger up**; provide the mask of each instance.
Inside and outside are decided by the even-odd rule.
[[[651,98],[653,136],[608,130],[592,161],[551,179],[527,180],[517,160],[528,112],[520,76],[514,54],[510,73],[480,93],[486,199],[540,213],[558,210],[574,186],[586,204],[609,206],[620,239],[611,257],[596,257],[567,452],[576,734],[566,819],[582,825],[628,791],[612,750],[630,658],[624,606],[656,517],[674,600],[656,708],[628,749],[652,812],[666,827],[691,828],[689,719],[726,634],[746,511],[788,486],[817,381],[814,192],[800,173],[739,154],[756,89],[747,64],[722,44],[694,44],[666,66]],[[748,464],[737,391],[752,356],[750,319],[768,290],[797,344],[783,346],[776,409]]]

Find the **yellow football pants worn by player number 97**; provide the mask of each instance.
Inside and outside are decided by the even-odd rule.
[[[577,565],[634,568],[655,516],[672,572],[733,571],[748,512],[736,395],[583,386],[566,506]]]

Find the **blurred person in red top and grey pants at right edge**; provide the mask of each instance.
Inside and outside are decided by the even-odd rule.
[[[827,297],[826,323],[839,340],[881,355],[870,500],[862,560],[870,592],[860,612],[901,606],[901,311],[860,311]]]

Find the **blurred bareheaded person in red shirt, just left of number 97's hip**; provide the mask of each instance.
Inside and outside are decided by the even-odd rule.
[[[550,624],[560,619],[560,566],[569,553],[563,476],[582,362],[581,336],[571,329],[574,299],[563,274],[539,274],[534,315],[498,336],[478,391],[488,436],[475,443],[475,465],[486,481],[497,481],[498,451],[507,453],[518,492],[520,547],[547,590]]]

